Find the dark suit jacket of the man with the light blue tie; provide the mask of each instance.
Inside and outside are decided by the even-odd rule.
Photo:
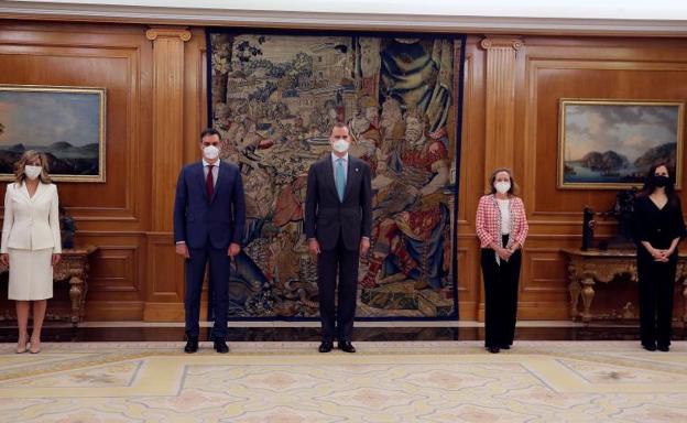
[[[331,250],[341,232],[346,249],[357,250],[360,238],[370,238],[372,231],[371,181],[370,166],[349,154],[346,191],[344,202],[340,202],[334,182],[331,154],[313,163],[305,196],[307,238],[317,238],[323,250]]]

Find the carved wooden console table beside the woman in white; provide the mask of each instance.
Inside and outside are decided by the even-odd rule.
[[[88,293],[88,271],[90,256],[98,247],[87,246],[76,249],[62,250],[62,260],[53,270],[55,282],[69,282],[69,301],[72,310],[64,319],[72,322],[76,327],[84,319],[86,294]],[[0,264],[0,273],[7,272],[7,267]]]

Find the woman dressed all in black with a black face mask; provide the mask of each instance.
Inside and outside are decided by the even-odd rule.
[[[685,236],[680,199],[665,163],[651,167],[634,202],[640,327],[644,349],[670,346],[677,245]]]

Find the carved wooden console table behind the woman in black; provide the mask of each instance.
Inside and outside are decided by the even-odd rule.
[[[595,284],[609,283],[620,275],[626,275],[636,282],[635,250],[588,250],[561,249],[568,259],[568,291],[570,292],[570,318],[581,318],[589,323],[591,303],[595,297]],[[683,322],[687,323],[687,254],[680,253],[677,260],[675,281],[681,283],[685,310]],[[579,299],[582,299],[582,312],[578,311]]]

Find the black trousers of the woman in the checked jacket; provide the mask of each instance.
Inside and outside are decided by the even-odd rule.
[[[504,236],[505,246],[508,236]],[[497,263],[497,252],[482,249],[482,278],[484,279],[484,346],[503,347],[513,344],[517,318],[517,284],[520,281],[521,250],[508,262]]]

